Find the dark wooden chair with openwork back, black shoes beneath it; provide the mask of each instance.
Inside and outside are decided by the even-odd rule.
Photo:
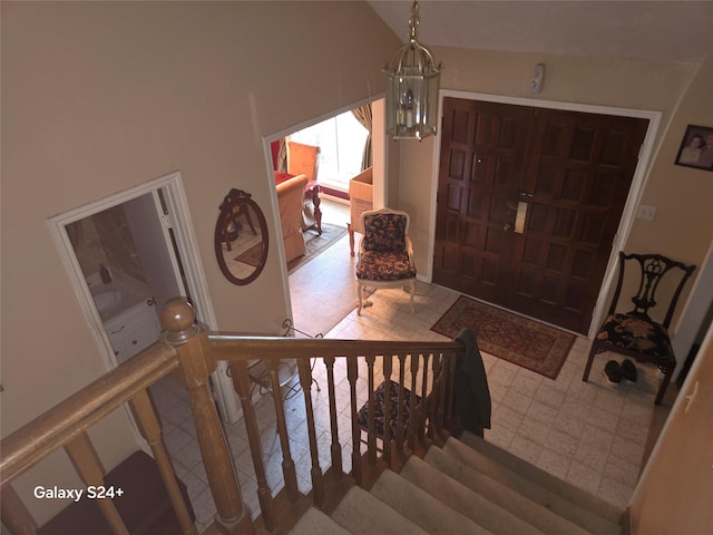
[[[634,309],[629,312],[616,312],[618,299],[625,281],[625,268],[638,275],[638,290],[632,298]],[[676,359],[668,338],[668,328],[678,298],[686,281],[695,270],[694,265],[684,265],[660,254],[625,254],[619,252],[619,275],[609,307],[607,318],[592,343],[589,358],[584,370],[583,381],[589,378],[594,356],[605,351],[614,351],[636,359],[638,362],[653,362],[664,373],[664,379],[656,395],[660,405],[671,382]],[[628,273],[631,275],[631,273]],[[678,278],[677,283],[675,278]],[[649,310],[656,302],[656,290],[664,280],[667,289],[673,291],[663,320],[654,320]]]

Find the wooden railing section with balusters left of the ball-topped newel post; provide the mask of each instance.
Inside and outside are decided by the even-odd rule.
[[[0,505],[2,523],[10,533],[29,535],[37,529],[11,481],[52,451],[59,448],[67,451],[85,485],[104,486],[104,468],[87,430],[128,402],[139,431],[152,449],[182,532],[197,534],[176,483],[160,437],[160,424],[147,391],[177,368],[175,349],[159,341],[3,438],[0,442]],[[97,504],[115,534],[128,533],[111,499],[98,499]]]

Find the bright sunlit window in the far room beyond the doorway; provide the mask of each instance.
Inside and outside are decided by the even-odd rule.
[[[369,132],[351,111],[318,123],[290,136],[291,139],[320,147],[320,183],[349,191],[349,179],[361,173],[364,144]]]

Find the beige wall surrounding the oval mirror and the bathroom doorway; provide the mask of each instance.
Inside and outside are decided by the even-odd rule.
[[[106,371],[52,215],[180,171],[218,328],[282,331],[277,241],[257,281],[229,284],[213,253],[217,205],[251,192],[275,236],[263,136],[378,96],[398,39],[361,2],[1,6],[4,436]],[[116,420],[108,466],[136,447]]]

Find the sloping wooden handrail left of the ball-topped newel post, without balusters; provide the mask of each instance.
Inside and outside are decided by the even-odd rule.
[[[177,367],[176,350],[164,342],[155,343],[3,438],[0,486],[69,444]]]

